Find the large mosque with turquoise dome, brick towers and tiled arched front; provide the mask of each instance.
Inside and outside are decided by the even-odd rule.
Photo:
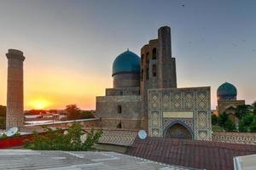
[[[112,65],[113,88],[96,97],[101,127],[145,129],[151,137],[212,140],[210,87],[177,88],[171,28]]]

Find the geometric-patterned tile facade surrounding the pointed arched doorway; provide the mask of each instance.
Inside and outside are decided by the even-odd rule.
[[[164,129],[178,120],[192,129],[195,139],[212,140],[210,88],[149,89],[148,96],[149,136],[163,136]],[[194,116],[163,118],[163,111],[193,111]]]

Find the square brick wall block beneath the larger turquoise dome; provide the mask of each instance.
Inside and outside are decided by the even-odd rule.
[[[121,107],[121,112],[118,112]],[[98,96],[96,97],[96,117],[101,127],[139,128],[141,122],[141,97]]]

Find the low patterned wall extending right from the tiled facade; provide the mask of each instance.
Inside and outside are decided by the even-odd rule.
[[[232,144],[256,145],[256,133],[213,133],[212,140]]]

